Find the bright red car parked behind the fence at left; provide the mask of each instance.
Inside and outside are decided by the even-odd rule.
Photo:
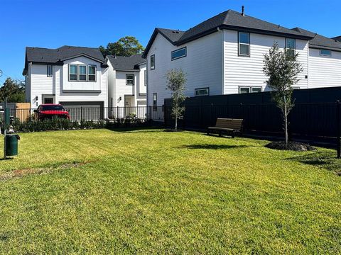
[[[52,118],[67,118],[70,120],[69,112],[64,109],[60,104],[55,103],[45,103],[36,110],[35,113],[38,115],[38,120],[52,119]]]

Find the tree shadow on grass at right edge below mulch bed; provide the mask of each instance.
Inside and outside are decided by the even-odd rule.
[[[291,157],[286,160],[294,160],[310,166],[318,166],[329,171],[334,171],[341,176],[341,159],[336,158],[336,152],[313,152],[298,157]]]

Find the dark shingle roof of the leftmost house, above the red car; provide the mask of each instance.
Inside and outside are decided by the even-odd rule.
[[[104,64],[104,57],[98,48],[62,46],[57,49],[43,47],[26,47],[25,67],[23,74],[27,71],[29,62],[37,64],[63,64],[64,60],[74,57],[85,56]]]

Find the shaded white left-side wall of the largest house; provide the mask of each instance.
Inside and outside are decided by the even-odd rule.
[[[171,60],[173,50],[187,47],[187,57]],[[155,55],[155,69],[150,69],[150,57]],[[158,94],[158,106],[164,98],[170,98],[166,90],[166,72],[170,69],[183,69],[187,74],[186,96],[194,96],[195,89],[210,88],[210,95],[222,94],[222,32],[212,33],[203,38],[176,47],[163,35],[156,35],[147,55],[148,106],[153,104],[153,93]]]

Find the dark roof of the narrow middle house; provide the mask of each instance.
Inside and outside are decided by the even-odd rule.
[[[115,70],[139,70],[139,64],[146,63],[141,54],[132,55],[130,57],[108,55],[107,59],[112,63]]]

